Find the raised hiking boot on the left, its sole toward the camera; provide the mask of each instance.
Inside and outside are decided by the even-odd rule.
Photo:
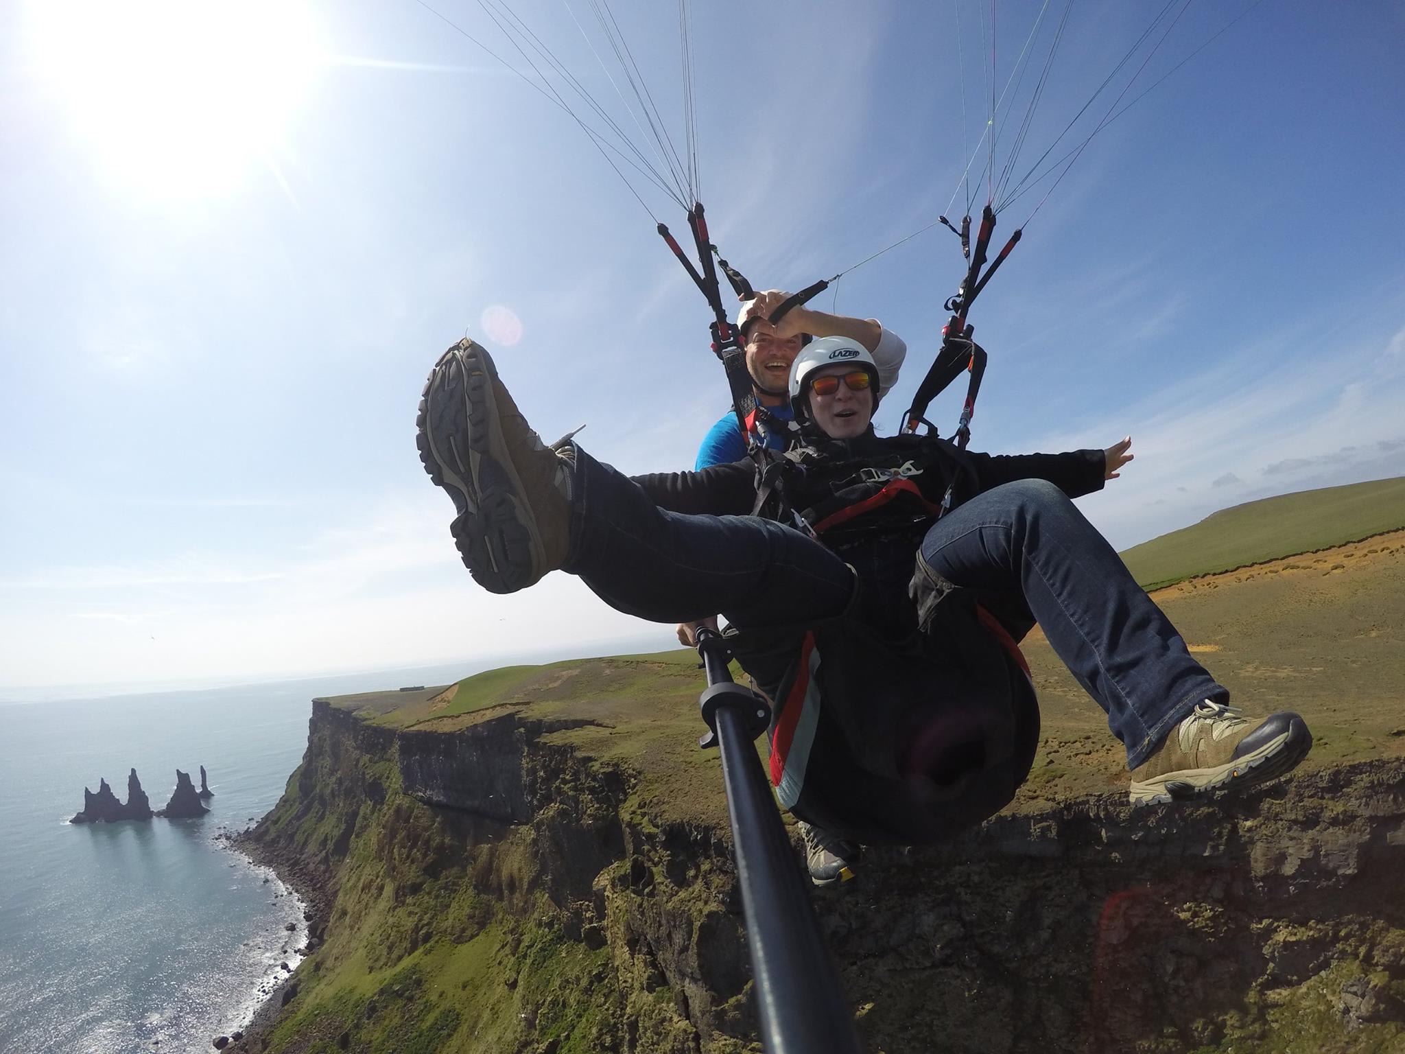
[[[445,351],[414,423],[424,471],[458,510],[454,545],[483,589],[516,593],[565,562],[573,450],[542,445],[488,351],[466,339]]]

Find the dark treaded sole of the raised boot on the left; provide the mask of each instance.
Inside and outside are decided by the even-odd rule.
[[[488,353],[462,340],[434,364],[416,415],[420,464],[454,499],[454,545],[473,579],[490,593],[516,593],[545,562],[531,506],[523,499],[493,401],[497,370]]]

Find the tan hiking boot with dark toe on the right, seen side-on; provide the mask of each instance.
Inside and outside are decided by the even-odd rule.
[[[1227,784],[1252,787],[1290,772],[1311,749],[1312,734],[1297,714],[1250,721],[1207,698],[1132,770],[1131,802],[1191,798]]]

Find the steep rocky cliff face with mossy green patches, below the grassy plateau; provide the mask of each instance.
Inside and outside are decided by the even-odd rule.
[[[246,1048],[759,1050],[726,832],[552,731],[315,705],[254,849],[334,898],[326,943]],[[870,1051],[1405,1050],[1402,760],[998,816],[850,887],[816,911]]]

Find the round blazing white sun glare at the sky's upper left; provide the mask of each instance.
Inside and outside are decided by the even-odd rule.
[[[37,60],[104,176],[209,198],[278,176],[319,51],[295,0],[41,0]]]

